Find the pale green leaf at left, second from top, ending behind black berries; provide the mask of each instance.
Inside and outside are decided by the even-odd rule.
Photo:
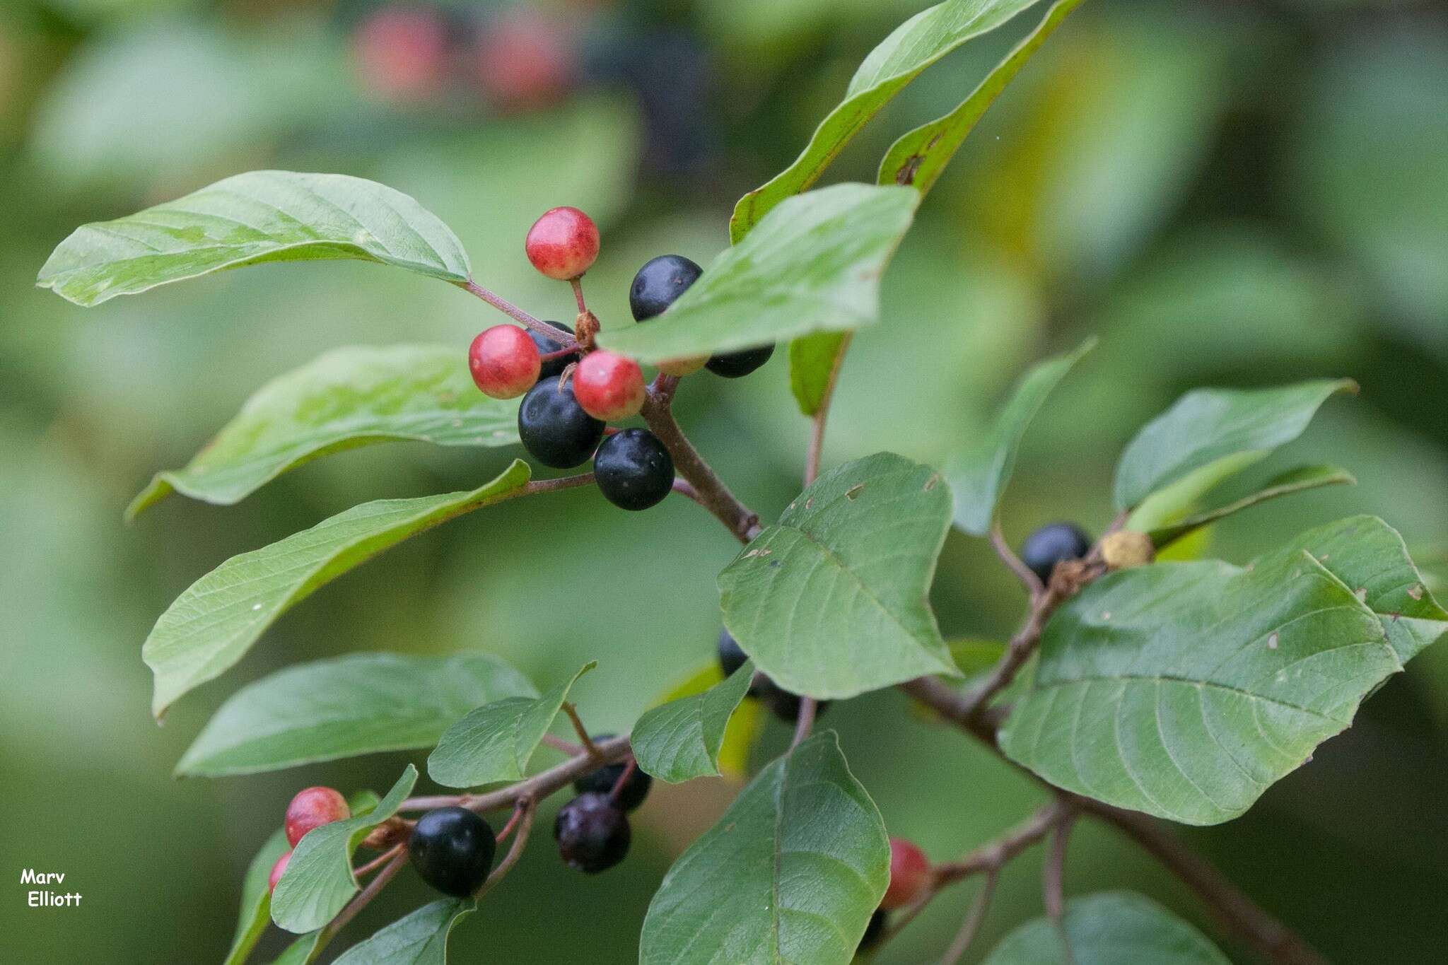
[[[229,506],[288,470],[358,446],[510,446],[518,441],[517,409],[479,392],[455,347],[336,349],[262,386],[184,469],[158,473],[126,518],[172,490]]]

